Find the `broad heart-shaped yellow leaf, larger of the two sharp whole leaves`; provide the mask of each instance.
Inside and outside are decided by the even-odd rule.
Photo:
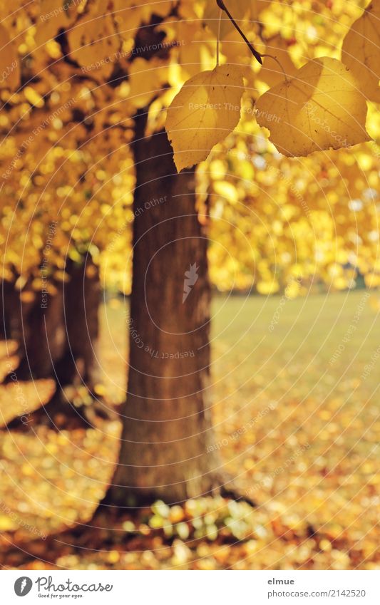
[[[366,100],[349,69],[322,57],[269,88],[256,103],[257,122],[284,155],[309,155],[369,140]]]

